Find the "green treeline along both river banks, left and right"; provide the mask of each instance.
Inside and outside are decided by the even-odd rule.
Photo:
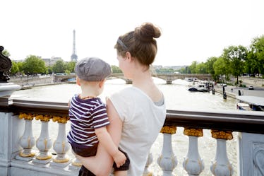
[[[10,57],[7,50],[4,55]],[[12,75],[56,74],[74,72],[76,62],[58,60],[52,66],[45,66],[41,57],[28,56],[25,61],[12,61]],[[118,66],[112,66],[113,73],[121,73]],[[174,72],[174,69],[156,69],[156,72]],[[264,35],[252,40],[249,47],[229,46],[224,48],[220,57],[210,57],[205,62],[193,61],[190,66],[177,70],[181,74],[211,74],[215,81],[225,82],[230,76],[249,74],[264,76]],[[236,83],[237,83],[236,81]]]

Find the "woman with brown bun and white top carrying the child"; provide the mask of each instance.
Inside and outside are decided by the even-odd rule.
[[[148,152],[166,116],[164,96],[153,82],[150,71],[157,53],[155,38],[160,35],[155,25],[143,23],[121,35],[114,46],[119,68],[133,81],[131,87],[107,99],[108,130],[116,145],[119,143],[119,148],[130,158],[128,176],[143,175]],[[100,144],[95,157],[77,158],[95,175],[109,175],[112,169],[113,159]]]

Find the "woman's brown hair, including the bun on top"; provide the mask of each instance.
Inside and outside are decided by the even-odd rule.
[[[125,57],[130,52],[140,64],[149,66],[153,63],[157,54],[157,42],[155,38],[160,37],[161,31],[152,23],[143,23],[134,31],[121,35],[114,48],[117,54]]]

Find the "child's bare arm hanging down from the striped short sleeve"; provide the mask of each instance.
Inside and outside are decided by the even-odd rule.
[[[107,131],[107,128],[97,128],[95,129],[95,134],[99,139],[101,145],[104,146],[107,152],[113,157],[117,168],[119,168],[121,165],[124,165],[124,163],[126,162],[126,156],[116,147],[114,141]]]

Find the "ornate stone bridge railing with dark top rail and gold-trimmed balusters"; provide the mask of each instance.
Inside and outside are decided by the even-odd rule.
[[[24,175],[78,175],[80,163],[71,153],[66,141],[68,105],[61,102],[41,102],[23,98],[0,98],[0,176]],[[40,135],[35,137],[35,123],[40,122]],[[55,139],[49,134],[51,124],[58,123]],[[151,165],[162,170],[162,175],[174,175],[181,168],[185,175],[203,174],[210,167],[212,175],[263,175],[264,153],[264,113],[246,111],[179,111],[167,110],[167,119],[162,128],[161,152],[157,162],[150,153],[144,175],[157,175]],[[56,128],[56,127],[55,127]],[[188,152],[177,165],[172,141],[177,128],[184,128],[188,136]],[[204,163],[200,156],[198,138],[203,130],[210,129],[215,140],[215,160]],[[56,131],[57,133],[56,133]],[[239,133],[237,146],[237,168],[229,162],[227,140],[232,140],[232,132]]]

